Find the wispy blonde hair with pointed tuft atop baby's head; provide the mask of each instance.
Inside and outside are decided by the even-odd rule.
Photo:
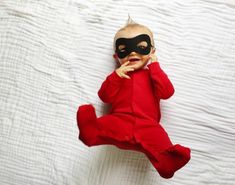
[[[116,32],[116,34],[115,34],[115,36],[114,36],[114,49],[115,49],[115,42],[116,42],[116,37],[117,37],[117,34],[120,32],[120,31],[123,31],[123,30],[126,30],[126,29],[129,29],[129,28],[144,28],[144,29],[146,29],[146,30],[148,30],[149,31],[149,36],[150,36],[150,39],[151,39],[151,42],[152,42],[152,45],[153,45],[153,47],[155,47],[154,46],[154,39],[153,39],[153,32],[147,27],[147,26],[144,26],[144,25],[142,25],[142,24],[138,24],[138,23],[136,23],[131,17],[130,17],[130,15],[128,14],[128,19],[127,19],[127,22],[126,22],[126,25],[124,26],[124,27],[122,27],[122,28],[120,28],[117,32]]]

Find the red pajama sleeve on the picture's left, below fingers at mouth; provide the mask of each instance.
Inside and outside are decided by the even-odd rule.
[[[123,78],[114,71],[102,83],[98,96],[104,103],[112,103],[120,90]]]

